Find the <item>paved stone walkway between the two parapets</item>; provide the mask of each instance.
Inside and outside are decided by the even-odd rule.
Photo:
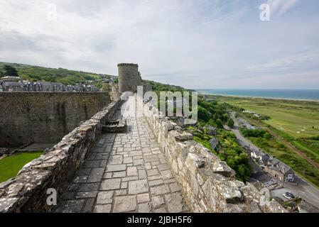
[[[188,207],[144,118],[102,135],[56,212],[186,212]]]

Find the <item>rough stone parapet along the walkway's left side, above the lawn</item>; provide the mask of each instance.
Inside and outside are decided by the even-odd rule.
[[[49,188],[58,197],[74,177],[99,139],[102,125],[112,117],[121,101],[115,100],[85,121],[55,145],[48,153],[28,163],[15,179],[0,184],[0,212],[51,211],[46,199]]]

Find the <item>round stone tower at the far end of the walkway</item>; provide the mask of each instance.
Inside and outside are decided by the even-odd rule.
[[[133,63],[120,63],[119,68],[119,92],[137,92],[137,86],[141,85],[139,65]]]

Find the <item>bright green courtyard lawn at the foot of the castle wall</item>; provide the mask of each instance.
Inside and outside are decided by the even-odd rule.
[[[42,151],[17,153],[0,160],[0,183],[12,177],[16,177],[18,171],[21,170],[26,163],[40,157],[42,153]]]

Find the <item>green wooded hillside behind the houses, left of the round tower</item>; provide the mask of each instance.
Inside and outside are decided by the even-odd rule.
[[[23,79],[31,81],[60,82],[63,84],[85,84],[87,80],[97,80],[94,84],[102,87],[102,79],[114,77],[109,74],[96,74],[92,72],[82,72],[75,70],[65,70],[62,68],[48,68],[34,65],[23,65],[16,63],[0,62],[0,77],[4,76],[4,65],[10,65],[18,70],[18,75]]]

